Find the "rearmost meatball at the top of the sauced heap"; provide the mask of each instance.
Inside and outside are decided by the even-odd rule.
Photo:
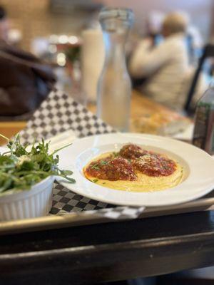
[[[135,160],[136,158],[147,154],[147,150],[143,150],[143,148],[133,144],[124,145],[119,152],[119,155],[121,155],[121,157],[125,157],[131,160]]]

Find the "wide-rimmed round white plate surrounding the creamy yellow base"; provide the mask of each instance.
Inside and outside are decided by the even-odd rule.
[[[102,152],[118,151],[132,142],[149,150],[170,155],[183,165],[184,179],[180,185],[158,192],[125,192],[96,185],[83,176],[83,166]],[[75,184],[58,180],[68,189],[98,201],[131,206],[165,206],[197,199],[214,188],[214,160],[208,153],[185,142],[156,135],[113,133],[95,135],[73,142],[59,152],[59,166],[72,170]]]

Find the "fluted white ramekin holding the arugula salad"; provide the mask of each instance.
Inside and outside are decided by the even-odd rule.
[[[0,197],[0,221],[45,216],[52,204],[54,177],[47,177],[31,190]]]

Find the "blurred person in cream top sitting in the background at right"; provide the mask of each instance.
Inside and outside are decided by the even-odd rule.
[[[180,12],[165,16],[161,27],[164,41],[153,47],[142,40],[129,60],[133,78],[146,78],[141,90],[158,103],[182,110],[193,71],[188,63],[185,33],[188,17]]]

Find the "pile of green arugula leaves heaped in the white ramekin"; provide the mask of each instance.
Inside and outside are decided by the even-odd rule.
[[[58,155],[55,150],[49,153],[49,144],[44,140],[29,147],[21,145],[19,135],[14,140],[8,140],[8,151],[0,153],[0,195],[8,190],[29,190],[31,186],[51,175],[66,178],[68,182],[76,182],[68,177],[73,174],[70,170],[58,168]],[[65,147],[67,147],[66,145]]]

